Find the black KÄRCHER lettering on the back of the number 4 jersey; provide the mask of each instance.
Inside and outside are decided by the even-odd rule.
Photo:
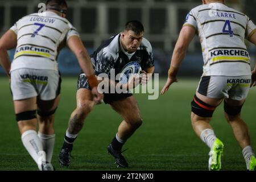
[[[243,56],[250,58],[249,53],[245,50],[240,49],[218,49],[215,51],[210,51],[210,57],[214,56]]]

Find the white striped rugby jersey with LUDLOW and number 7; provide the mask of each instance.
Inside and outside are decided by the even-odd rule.
[[[30,14],[19,19],[10,30],[17,35],[11,71],[19,68],[58,71],[57,56],[69,37],[79,33],[65,18],[46,11],[43,16]]]

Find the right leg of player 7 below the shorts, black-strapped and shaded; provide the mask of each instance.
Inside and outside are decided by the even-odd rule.
[[[46,152],[46,162],[51,163],[53,148],[55,143],[55,131],[53,123],[55,111],[60,101],[60,96],[54,100],[43,101],[38,99],[38,137],[42,141],[43,150]]]

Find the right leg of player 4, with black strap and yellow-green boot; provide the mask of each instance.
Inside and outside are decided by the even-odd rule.
[[[233,109],[241,107],[245,100],[236,101],[231,99],[226,99],[226,104]],[[250,143],[250,135],[246,123],[241,118],[241,113],[230,115],[225,113],[226,120],[229,125],[232,127],[235,138],[237,139],[238,144],[242,148],[242,153],[245,158],[247,170],[256,170],[256,159],[253,148]]]

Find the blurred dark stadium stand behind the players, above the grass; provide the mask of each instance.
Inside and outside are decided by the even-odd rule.
[[[40,0],[0,0],[0,36],[18,19],[30,13],[38,12]],[[110,36],[121,32],[127,20],[140,20],[145,27],[144,36],[150,40],[155,55],[155,72],[165,76],[170,65],[179,30],[185,16],[201,1],[192,0],[73,0],[68,2],[67,19],[79,30],[82,41],[89,53]],[[256,22],[254,8],[256,0],[228,0],[229,6],[240,10]],[[247,43],[251,60],[255,60],[255,46]],[[10,51],[10,58],[14,50]],[[77,75],[79,65],[67,48],[61,51],[59,66],[62,75]],[[199,39],[189,46],[187,56],[180,68],[183,76],[201,74],[203,58]],[[254,64],[252,64],[253,66]],[[3,75],[0,68],[0,75]]]

